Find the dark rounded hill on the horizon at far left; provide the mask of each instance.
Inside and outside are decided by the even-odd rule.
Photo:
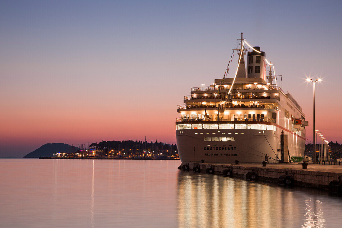
[[[52,154],[55,152],[76,152],[79,148],[71,146],[66,143],[47,143],[42,145],[35,151],[28,153],[24,156],[25,157],[52,157]]]

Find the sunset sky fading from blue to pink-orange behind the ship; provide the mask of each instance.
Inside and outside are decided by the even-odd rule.
[[[341,1],[0,1],[0,156],[42,144],[175,143],[177,104],[221,78],[241,31],[342,143]],[[234,59],[229,77],[233,77]]]

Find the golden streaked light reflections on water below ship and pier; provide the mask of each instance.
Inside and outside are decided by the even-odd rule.
[[[339,227],[341,198],[306,188],[284,188],[181,171],[180,227]]]

